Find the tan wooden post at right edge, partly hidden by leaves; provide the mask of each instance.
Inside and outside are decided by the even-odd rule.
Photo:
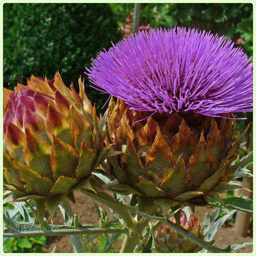
[[[250,136],[250,144],[249,144],[249,151],[253,150],[253,127],[252,132]],[[251,173],[253,174],[253,165],[250,164],[250,166],[247,167]],[[253,178],[252,177],[245,177],[242,183],[242,186],[250,189],[250,191],[253,191]],[[243,190],[242,195],[246,195],[248,198],[253,199],[253,193]],[[251,213],[249,212],[241,212],[238,211],[236,215],[236,224],[235,224],[235,233],[237,236],[247,236],[249,225],[250,225],[250,216]]]

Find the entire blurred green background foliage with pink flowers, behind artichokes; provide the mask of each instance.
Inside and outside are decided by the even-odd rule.
[[[111,41],[116,44],[132,32],[133,12],[134,3],[4,3],[4,87],[26,84],[31,74],[53,79],[59,70],[76,90],[79,77],[84,78],[89,99],[103,113],[108,95],[89,86],[84,67]],[[224,35],[252,56],[252,3],[141,3],[140,29],[172,26]]]

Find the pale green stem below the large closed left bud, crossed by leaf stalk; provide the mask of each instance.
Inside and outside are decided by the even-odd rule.
[[[62,201],[60,204],[70,217],[73,216],[73,210],[71,208],[68,198],[65,198],[64,201]],[[63,217],[65,218],[65,216]],[[70,240],[72,242],[74,253],[85,253],[81,235],[70,235]]]

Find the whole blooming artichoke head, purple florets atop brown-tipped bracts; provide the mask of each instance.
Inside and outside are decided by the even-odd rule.
[[[253,111],[253,64],[231,41],[195,29],[151,29],[100,52],[87,69],[111,99],[107,138],[125,154],[108,158],[119,193],[138,194],[166,215],[208,198],[236,172],[241,140],[233,112]],[[247,159],[249,160],[249,159]],[[143,199],[144,198],[144,199]],[[143,200],[142,200],[143,199]]]

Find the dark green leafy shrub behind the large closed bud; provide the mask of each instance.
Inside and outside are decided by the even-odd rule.
[[[3,83],[13,87],[26,83],[31,74],[53,79],[59,70],[64,83],[78,90],[91,58],[117,43],[121,35],[110,6],[106,3],[5,3],[3,5]],[[24,81],[25,80],[25,81]],[[9,85],[10,84],[10,85]],[[106,96],[107,97],[107,96]],[[102,105],[102,102],[98,102]]]

